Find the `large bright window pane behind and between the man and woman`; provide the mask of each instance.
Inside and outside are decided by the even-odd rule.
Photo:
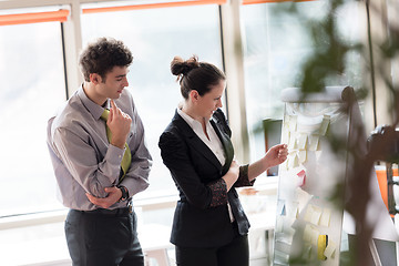
[[[209,61],[222,69],[218,7],[206,4],[83,14],[83,47],[99,37],[122,40],[134,57],[129,90],[143,120],[154,160],[150,187],[137,197],[174,194],[175,185],[157,146],[160,135],[182,101],[170,64],[175,55],[188,59],[196,54],[201,61]]]

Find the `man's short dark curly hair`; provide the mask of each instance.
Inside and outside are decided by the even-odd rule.
[[[129,48],[112,38],[100,38],[90,43],[79,58],[85,81],[90,81],[91,73],[98,73],[105,79],[105,74],[114,66],[129,66],[132,61],[133,55]]]

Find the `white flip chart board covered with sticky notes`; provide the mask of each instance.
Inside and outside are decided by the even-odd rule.
[[[296,88],[282,93],[282,143],[289,155],[278,170],[273,265],[339,265],[344,209],[331,198],[345,200],[337,188],[345,184],[346,154],[334,146],[348,140],[345,90],[329,86],[305,99]]]

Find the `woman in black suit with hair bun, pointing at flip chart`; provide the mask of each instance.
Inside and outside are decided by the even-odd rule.
[[[196,57],[175,57],[171,71],[184,101],[158,146],[181,197],[171,236],[177,265],[246,266],[249,223],[235,187],[253,185],[256,176],[283,163],[287,147],[276,145],[259,161],[239,166],[221,110],[224,73]]]

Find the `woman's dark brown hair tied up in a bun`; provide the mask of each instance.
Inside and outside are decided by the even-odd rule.
[[[203,96],[221,80],[226,80],[225,74],[218,68],[211,63],[198,62],[196,55],[188,60],[175,57],[171,62],[171,72],[177,75],[184,99],[188,99],[192,90],[197,91]]]

